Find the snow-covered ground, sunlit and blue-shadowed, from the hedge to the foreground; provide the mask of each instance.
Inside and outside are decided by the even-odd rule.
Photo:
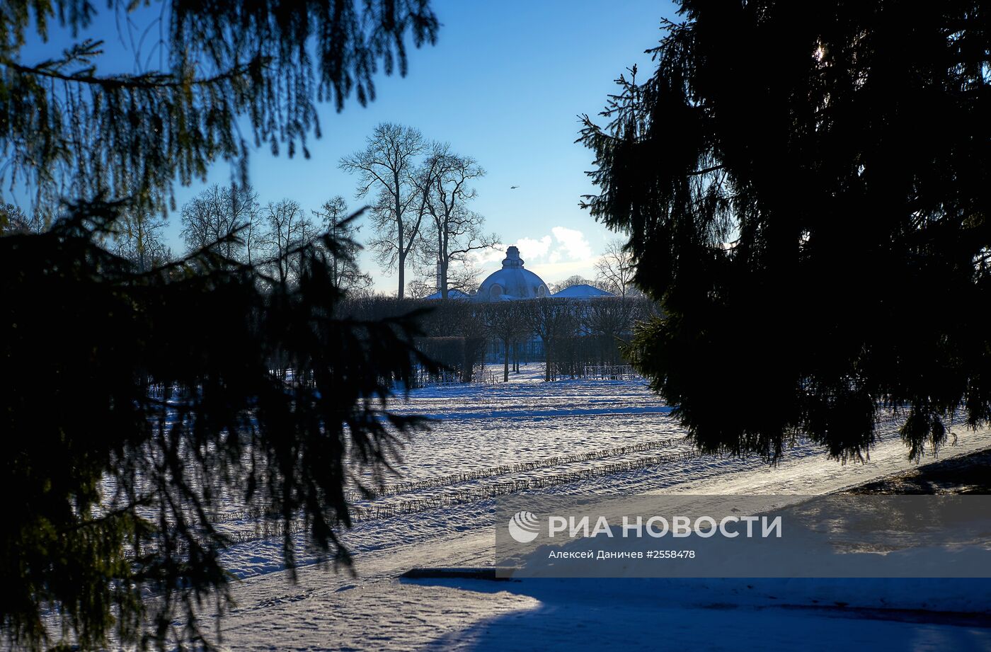
[[[856,649],[991,649],[991,630],[956,616],[927,611],[914,621],[904,613],[879,620],[865,618],[864,610],[822,608],[856,594],[867,606],[909,595],[918,599],[897,606],[946,610],[954,604],[949,596],[967,593],[974,598],[967,604],[988,609],[984,581],[397,580],[414,567],[493,564],[495,499],[510,492],[812,494],[912,466],[894,422],[864,464],[841,465],[809,444],[789,451],[776,468],[759,459],[699,457],[644,382],[543,383],[535,381],[539,376],[533,366],[508,383],[411,392],[404,409],[437,421],[408,442],[391,490],[360,504],[363,518],[345,536],[356,553],[356,575],[303,566],[298,583],[290,584],[279,542],[245,536],[225,560],[240,582],[238,607],[223,620],[224,644],[234,650],[575,644],[738,650],[831,649],[841,642]],[[940,457],[988,446],[991,432],[961,432]],[[253,527],[237,518],[224,525],[249,534]],[[939,609],[940,603],[948,606]]]

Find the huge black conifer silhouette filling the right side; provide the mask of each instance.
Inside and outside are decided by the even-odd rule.
[[[581,135],[664,309],[637,368],[706,451],[863,459],[891,409],[918,459],[987,424],[986,3],[680,4]]]

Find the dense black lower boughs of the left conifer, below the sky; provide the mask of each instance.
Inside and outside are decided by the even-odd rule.
[[[421,425],[387,410],[391,382],[435,369],[413,347],[415,314],[336,316],[339,241],[288,252],[294,284],[224,258],[223,243],[141,272],[95,243],[120,208],[80,204],[44,234],[0,238],[2,355],[17,382],[0,394],[3,490],[17,496],[0,612],[29,647],[46,640],[49,605],[84,648],[111,630],[202,642],[195,600],[222,611],[228,597],[228,542],[211,522],[225,501],[280,524],[290,568],[294,523],[347,563],[345,485],[370,468],[381,482]],[[171,631],[177,617],[184,631]]]

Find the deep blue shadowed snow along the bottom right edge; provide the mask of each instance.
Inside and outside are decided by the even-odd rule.
[[[481,586],[472,589],[487,590]],[[862,619],[820,610],[736,606],[729,600],[701,608],[683,608],[677,606],[678,596],[627,591],[613,598],[604,595],[601,586],[577,591],[570,587],[567,592],[561,586],[539,587],[532,593],[539,597],[537,604],[517,607],[443,634],[424,649],[621,649],[627,652],[991,649],[991,630],[966,626]]]

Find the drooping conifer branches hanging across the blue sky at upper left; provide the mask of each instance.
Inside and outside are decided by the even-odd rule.
[[[148,26],[161,39],[133,53],[161,67],[105,74],[103,43],[83,38],[114,20],[101,4],[0,4],[0,181],[30,182],[47,217],[63,195],[100,192],[161,209],[176,180],[205,179],[216,160],[237,164],[244,185],[253,147],[308,158],[318,101],[374,100],[375,73],[405,74],[408,41],[433,43],[438,29],[427,0],[172,0]],[[80,41],[24,60],[31,32],[55,22]]]

